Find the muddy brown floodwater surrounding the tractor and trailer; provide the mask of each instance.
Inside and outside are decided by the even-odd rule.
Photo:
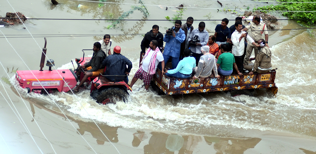
[[[97,0],[58,2],[0,1],[1,16],[21,12],[37,18],[0,27],[1,154],[316,154],[316,38],[313,31],[297,30],[304,27],[295,21],[279,20],[278,30],[269,31],[272,67],[278,68],[276,98],[264,89],[256,90],[254,97],[232,98],[224,92],[172,97],[146,92],[137,81],[128,103],[99,105],[89,90],[39,95],[27,93],[14,79],[16,70],[40,69],[44,37],[47,58],[56,68],[70,69],[82,49],[92,49],[94,42],[110,34],[112,48],[119,45],[133,63],[131,80],[143,34],[155,24],[162,33],[172,27],[170,21],[155,20],[172,18],[179,11],[175,6],[190,7],[183,11],[183,19],[192,16],[194,28],[204,20],[213,35],[221,19],[228,18],[231,26],[244,12],[234,9],[275,3],[221,1],[221,7],[213,0],[143,0],[149,13],[145,16],[131,11],[132,6],[140,7],[135,5],[138,0],[108,0],[111,3],[104,5]],[[112,21],[103,20],[127,13],[124,19],[129,21],[115,28]],[[286,19],[278,12],[273,15]]]

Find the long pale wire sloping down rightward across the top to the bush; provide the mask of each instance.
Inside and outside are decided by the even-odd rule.
[[[83,1],[83,2],[97,2],[97,3],[112,3],[112,4],[125,4],[125,5],[141,5],[141,6],[158,6],[158,7],[173,7],[179,8],[179,6],[163,6],[163,5],[148,5],[148,4],[130,4],[130,3],[115,3],[115,2],[99,2],[99,1],[87,1],[87,0],[72,0],[72,1]],[[216,8],[195,8],[195,7],[181,7],[188,9],[215,9]],[[239,10],[239,11],[270,11],[270,12],[316,12],[316,11],[279,11],[279,10],[247,10],[247,9],[220,9],[218,10]]]

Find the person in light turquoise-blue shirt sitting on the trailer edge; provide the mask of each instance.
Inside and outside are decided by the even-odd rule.
[[[185,49],[183,51],[184,58],[180,60],[178,66],[175,69],[166,70],[166,75],[176,78],[190,78],[192,75],[192,68],[195,68],[195,59],[190,57],[191,50]]]

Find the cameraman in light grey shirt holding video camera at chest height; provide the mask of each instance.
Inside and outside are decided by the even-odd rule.
[[[198,39],[196,40],[196,36]],[[200,57],[203,55],[201,51],[201,47],[206,45],[209,41],[209,33],[205,30],[205,23],[201,21],[198,24],[198,28],[194,29],[189,36],[189,48],[191,49],[191,56],[195,57],[196,65],[198,65],[198,61]]]

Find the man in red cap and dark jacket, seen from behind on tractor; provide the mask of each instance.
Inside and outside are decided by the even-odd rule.
[[[125,56],[121,55],[121,47],[115,46],[113,51],[113,54],[107,56],[105,60],[102,62],[102,64],[106,66],[105,75],[113,75],[106,76],[106,78],[113,82],[119,82],[124,80],[126,83],[128,83],[127,76],[125,77],[123,75],[130,74],[132,69],[132,62]],[[128,68],[126,68],[126,65],[128,66]]]

